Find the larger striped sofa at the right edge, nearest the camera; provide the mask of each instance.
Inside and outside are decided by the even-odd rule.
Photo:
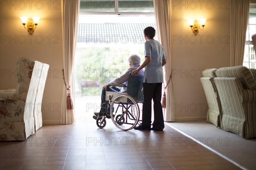
[[[256,78],[244,66],[216,70],[214,83],[221,101],[221,129],[244,138],[256,137]]]

